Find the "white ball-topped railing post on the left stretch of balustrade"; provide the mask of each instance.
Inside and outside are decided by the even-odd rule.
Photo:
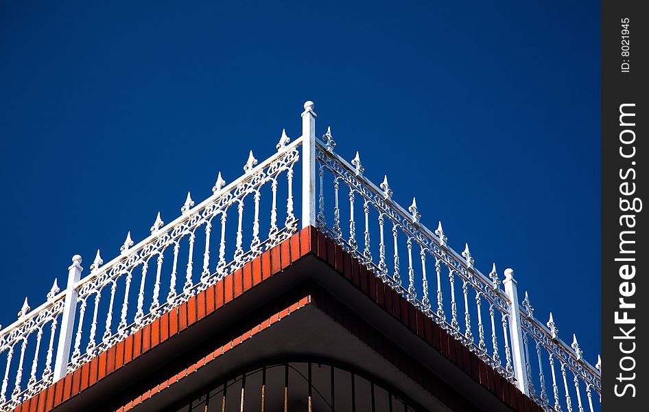
[[[77,309],[77,290],[75,284],[81,279],[81,256],[72,257],[72,265],[68,268],[68,285],[65,289],[65,301],[63,306],[63,316],[61,317],[61,329],[58,336],[58,346],[56,347],[56,361],[54,362],[54,379],[56,382],[65,376],[70,358],[70,347],[72,345],[72,336],[74,329],[74,315]]]

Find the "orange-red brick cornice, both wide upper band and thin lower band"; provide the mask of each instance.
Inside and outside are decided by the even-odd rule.
[[[493,393],[494,396],[502,400],[512,410],[519,412],[536,412],[542,410],[528,396],[525,396],[519,389],[503,378],[502,375],[494,371],[489,365],[486,365],[484,361],[469,351],[467,347],[464,347],[460,341],[454,339],[453,336],[450,336],[445,330],[440,328],[432,319],[401,297],[399,293],[384,284],[372,271],[359,264],[349,253],[343,251],[340,246],[334,244],[333,241],[320,231],[317,231],[316,228],[307,227],[295,233],[291,238],[276,247],[273,247],[270,251],[262,253],[261,256],[235,271],[235,273],[227,275],[216,284],[198,293],[198,295],[191,297],[187,302],[166,312],[149,325],[128,336],[128,338],[117,343],[117,345],[110,347],[106,352],[102,352],[71,374],[67,374],[64,378],[58,380],[58,382],[55,382],[53,385],[47,387],[47,389],[38,393],[38,395],[26,400],[19,407],[16,407],[14,412],[47,412],[56,409],[71,400],[71,398],[78,396],[82,391],[91,389],[97,385],[97,382],[101,382],[107,376],[123,369],[123,367],[140,358],[152,350],[152,348],[163,345],[172,337],[182,334],[182,332],[191,328],[194,324],[200,323],[204,318],[210,317],[211,314],[227,306],[229,302],[237,299],[237,297],[240,297],[251,288],[281,273],[285,268],[297,262],[305,255],[311,254],[329,264],[331,268],[345,277],[350,284],[353,284],[355,288],[361,290],[368,299],[371,299],[382,310],[388,312],[394,319],[410,329],[413,334],[419,336],[420,339],[445,356],[445,358],[464,371],[464,373],[471,376],[477,384],[482,385],[482,387]],[[252,338],[257,332],[270,327],[279,319],[314,302],[318,308],[329,314],[336,321],[339,321],[345,328],[348,328],[356,334],[359,339],[365,341],[379,354],[394,363],[394,359],[390,359],[390,357],[394,358],[394,353],[398,352],[398,348],[393,347],[392,350],[386,350],[386,347],[390,347],[389,341],[383,338],[379,339],[379,334],[371,332],[370,328],[360,327],[359,325],[363,324],[361,319],[354,325],[349,323],[349,319],[354,319],[353,314],[348,313],[342,319],[341,314],[344,311],[344,306],[338,304],[335,299],[332,299],[326,293],[316,293],[315,295],[307,293],[302,297],[298,297],[295,301],[290,302],[283,310],[261,321],[259,325],[254,326],[250,330],[246,330],[229,343],[218,347],[187,369],[183,369],[180,373],[166,379],[164,382],[156,383],[155,387],[152,387],[152,389],[143,393],[139,398],[124,405],[120,410],[130,409],[130,407],[152,396],[154,393],[169,387],[169,385],[173,385],[177,380],[193,373],[196,369],[200,369],[203,365],[214,361],[221,354]],[[337,317],[340,319],[337,319]],[[452,404],[458,402],[457,400],[449,398],[445,402],[443,399],[445,393],[440,393],[439,389],[435,389],[431,384],[422,380],[423,375],[429,374],[429,372],[420,370],[423,368],[420,367],[417,369],[414,367],[413,369],[412,362],[403,363],[403,365],[399,365],[397,362],[394,365],[397,365],[406,374],[414,376],[416,382],[431,391],[442,402],[449,405],[451,409],[458,411],[469,410],[464,407],[453,407]],[[409,368],[412,370],[408,371]],[[419,378],[416,378],[417,375],[419,375]],[[437,385],[436,387],[439,388],[440,386]]]

